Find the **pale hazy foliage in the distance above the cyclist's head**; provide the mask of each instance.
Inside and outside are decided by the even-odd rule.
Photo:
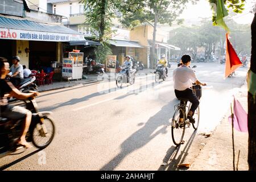
[[[168,43],[181,48],[181,54],[190,53],[192,57],[196,56],[197,48],[204,47],[205,54],[210,55],[212,52],[216,53],[221,49],[221,55],[224,55],[225,31],[220,27],[212,26],[210,20],[203,20],[200,26],[179,27],[170,32],[174,35],[168,40]],[[237,53],[250,54],[250,26],[245,24],[238,24],[234,20],[227,20],[230,27],[230,37],[233,47]],[[220,45],[220,47],[218,46]],[[220,52],[218,52],[220,55]],[[207,58],[207,57],[206,57]]]

